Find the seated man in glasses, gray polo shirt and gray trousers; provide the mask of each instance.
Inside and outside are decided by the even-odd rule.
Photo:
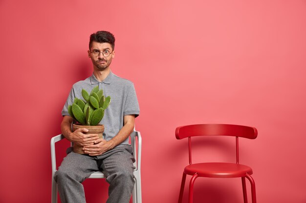
[[[134,128],[139,106],[133,83],[120,78],[110,71],[114,52],[115,38],[107,31],[98,31],[90,36],[88,57],[92,61],[93,74],[75,83],[63,108],[62,133],[70,142],[83,146],[86,154],[67,150],[59,170],[55,174],[62,203],[86,203],[84,188],[81,184],[91,173],[102,170],[109,183],[107,203],[129,203],[135,161],[129,145],[129,135]],[[111,103],[105,110],[100,122],[105,126],[104,139],[96,134],[85,134],[88,130],[71,131],[72,117],[67,107],[75,97],[83,98],[81,90],[90,92],[99,85]]]

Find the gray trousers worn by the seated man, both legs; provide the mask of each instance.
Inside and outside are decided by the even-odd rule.
[[[77,154],[64,158],[54,179],[58,184],[62,203],[86,203],[82,182],[91,173],[101,170],[109,183],[107,203],[129,203],[134,187],[131,146],[113,148],[100,156]]]

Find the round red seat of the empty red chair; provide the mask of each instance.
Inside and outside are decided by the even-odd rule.
[[[184,173],[207,178],[237,178],[253,174],[252,168],[233,163],[199,163],[186,166]]]

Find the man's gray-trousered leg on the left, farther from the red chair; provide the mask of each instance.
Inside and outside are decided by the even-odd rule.
[[[61,202],[86,203],[82,182],[97,170],[97,162],[93,157],[74,152],[67,154],[54,176]]]

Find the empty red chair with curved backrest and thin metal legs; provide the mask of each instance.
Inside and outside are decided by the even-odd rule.
[[[206,135],[222,135],[236,137],[236,164],[234,163],[198,163],[191,162],[191,137]],[[189,203],[193,202],[193,188],[197,177],[207,178],[238,178],[242,180],[243,200],[247,203],[247,193],[245,178],[251,183],[252,203],[256,203],[255,182],[251,175],[252,168],[239,164],[239,148],[238,139],[244,137],[255,139],[257,137],[257,129],[247,126],[228,125],[228,124],[198,124],[181,126],[175,129],[175,137],[180,140],[188,137],[189,144],[189,165],[184,168],[182,184],[179,192],[178,203],[182,202],[185,186],[186,175],[192,178],[189,184]]]

